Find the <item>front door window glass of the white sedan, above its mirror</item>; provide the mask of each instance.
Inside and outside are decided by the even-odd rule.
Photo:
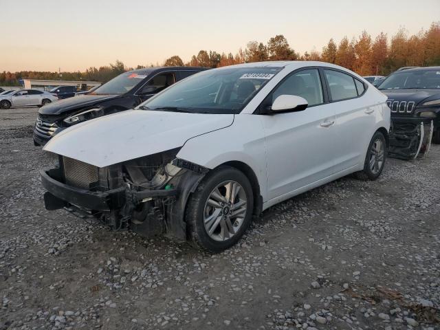
[[[272,103],[280,95],[296,95],[305,98],[309,106],[324,102],[322,83],[318,69],[305,69],[292,74],[272,94]]]

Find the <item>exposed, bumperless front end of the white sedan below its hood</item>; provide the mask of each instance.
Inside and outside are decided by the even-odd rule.
[[[207,168],[176,157],[179,148],[103,168],[59,156],[41,171],[47,210],[93,216],[113,230],[186,239],[186,201]]]

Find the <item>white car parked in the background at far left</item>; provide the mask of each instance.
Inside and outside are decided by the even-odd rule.
[[[30,105],[43,106],[58,100],[58,97],[48,91],[37,89],[20,89],[9,94],[0,95],[0,108],[28,107]]]

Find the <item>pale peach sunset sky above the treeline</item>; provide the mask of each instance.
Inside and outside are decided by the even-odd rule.
[[[199,50],[235,54],[276,34],[300,53],[362,30],[414,34],[440,19],[440,0],[0,0],[0,15],[1,72],[83,72],[116,59],[135,67]]]

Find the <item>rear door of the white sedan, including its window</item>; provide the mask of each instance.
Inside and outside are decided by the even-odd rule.
[[[363,97],[366,84],[338,69],[326,68],[324,72],[330,104],[336,111],[336,172],[364,162],[364,151],[375,126],[376,104]]]

